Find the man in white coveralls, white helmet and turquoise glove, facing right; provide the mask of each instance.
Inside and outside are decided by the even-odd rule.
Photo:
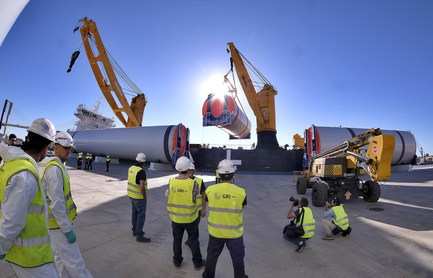
[[[60,278],[91,277],[81,256],[76,236],[72,229],[77,207],[71,196],[69,173],[64,163],[75,148],[69,133],[59,132],[54,140],[55,156],[45,158],[41,183],[48,204],[48,228],[51,243],[55,249],[54,262]]]

